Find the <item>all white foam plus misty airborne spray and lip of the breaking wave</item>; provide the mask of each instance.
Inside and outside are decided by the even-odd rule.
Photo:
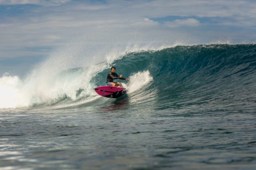
[[[134,45],[123,50],[113,48],[108,49],[108,53],[103,54],[103,51],[100,51],[88,56],[85,56],[85,49],[82,49],[81,45],[59,49],[52,53],[48,60],[36,65],[24,80],[8,74],[0,77],[0,108],[51,105],[65,98],[72,101],[80,98],[86,98],[88,101],[97,99],[93,90],[95,85],[89,80],[98,72],[110,68],[115,60],[121,59],[126,53],[148,48],[152,47]],[[149,71],[131,75],[128,93],[140,89],[151,79]],[[77,96],[79,89],[83,91]]]

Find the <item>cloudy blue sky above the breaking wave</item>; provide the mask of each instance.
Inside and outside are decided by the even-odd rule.
[[[92,56],[134,45],[255,43],[255,9],[254,0],[0,0],[0,75],[26,74],[69,45]]]

